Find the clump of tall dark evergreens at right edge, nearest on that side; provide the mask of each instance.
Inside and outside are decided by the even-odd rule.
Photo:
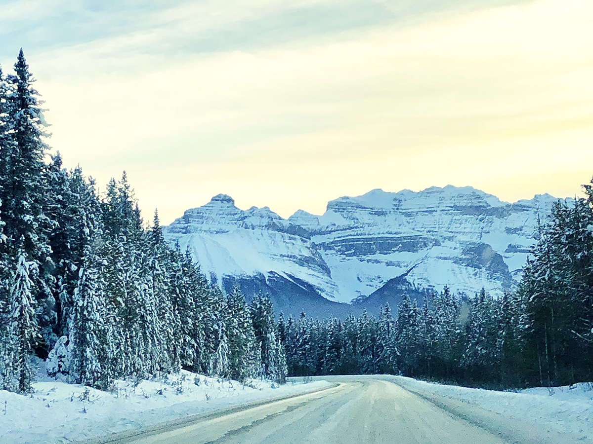
[[[588,188],[589,187],[589,188]],[[531,321],[527,351],[532,381],[570,384],[593,376],[593,208],[588,196],[570,207],[557,202],[524,268],[519,295]]]

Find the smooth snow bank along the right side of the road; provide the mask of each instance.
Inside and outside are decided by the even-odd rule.
[[[402,387],[426,392],[477,406],[524,422],[545,424],[556,432],[593,442],[593,383],[581,382],[565,387],[528,388],[517,392],[482,390],[433,384],[396,377]]]

